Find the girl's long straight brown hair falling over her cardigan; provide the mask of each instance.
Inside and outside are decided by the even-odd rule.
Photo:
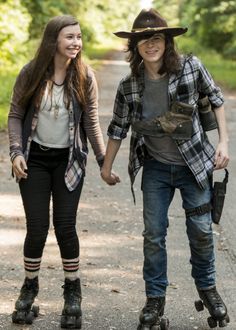
[[[36,104],[40,100],[46,82],[54,74],[54,56],[57,49],[58,34],[64,27],[77,24],[79,24],[77,19],[70,15],[56,16],[48,22],[41,44],[29,64],[29,79],[24,86],[20,100],[22,106],[27,107],[32,99]],[[71,60],[64,84],[65,99],[68,104],[73,93],[83,107],[86,103],[87,65],[81,59],[81,51],[76,58]]]

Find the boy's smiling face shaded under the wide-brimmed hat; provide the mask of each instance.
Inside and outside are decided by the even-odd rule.
[[[150,38],[140,40],[137,47],[144,62],[161,62],[165,52],[165,35],[156,33]]]

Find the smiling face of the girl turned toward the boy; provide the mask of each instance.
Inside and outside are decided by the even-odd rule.
[[[56,54],[66,59],[73,59],[82,49],[82,34],[79,24],[61,29],[57,37]]]

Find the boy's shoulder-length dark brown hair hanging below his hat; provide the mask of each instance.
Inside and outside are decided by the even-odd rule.
[[[150,38],[151,35],[148,36]],[[142,40],[142,38],[130,38],[128,40],[128,62],[130,63],[131,72],[135,77],[139,76],[140,64],[142,62],[142,57],[139,54],[137,44]],[[159,74],[163,73],[177,73],[180,70],[180,55],[178,54],[174,38],[168,34],[165,35],[165,52],[163,55],[163,65],[159,70]]]

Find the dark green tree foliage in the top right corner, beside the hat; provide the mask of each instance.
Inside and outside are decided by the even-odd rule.
[[[205,47],[236,58],[236,2],[234,0],[182,0],[181,23]]]

